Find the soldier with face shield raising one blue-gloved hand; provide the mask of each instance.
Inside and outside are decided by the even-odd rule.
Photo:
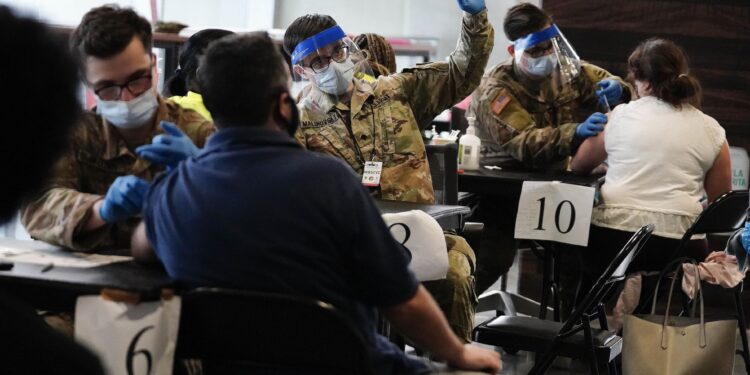
[[[434,203],[420,125],[471,93],[494,42],[484,0],[458,5],[464,11],[461,36],[445,61],[377,79],[367,55],[333,18],[311,14],[292,22],[284,49],[295,79],[311,82],[298,97],[300,144],[346,161],[377,198]],[[424,285],[456,335],[469,342],[477,304],[475,254],[460,236],[446,233],[445,241],[448,275]]]

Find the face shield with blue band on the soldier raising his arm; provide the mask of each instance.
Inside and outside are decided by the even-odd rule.
[[[292,65],[296,87],[314,86],[300,90],[300,105],[323,112],[348,98],[355,83],[375,81],[366,53],[339,26],[300,42],[292,52]]]

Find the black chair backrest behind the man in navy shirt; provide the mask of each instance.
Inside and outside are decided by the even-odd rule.
[[[330,304],[216,288],[182,296],[177,358],[289,373],[370,374],[367,344]],[[231,366],[230,366],[231,367]]]

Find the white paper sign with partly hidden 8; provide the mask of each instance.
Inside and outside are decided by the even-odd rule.
[[[382,216],[396,241],[409,251],[409,269],[417,280],[444,279],[448,273],[448,248],[440,224],[419,210]]]

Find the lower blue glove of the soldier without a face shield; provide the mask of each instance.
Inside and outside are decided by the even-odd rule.
[[[109,187],[99,216],[107,223],[116,223],[135,216],[143,208],[148,182],[133,175],[120,176]]]

